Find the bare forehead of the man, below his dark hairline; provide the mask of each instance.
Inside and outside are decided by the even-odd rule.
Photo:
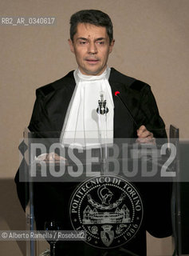
[[[78,23],[77,24],[77,33],[75,34],[78,37],[85,38],[108,38],[106,28],[104,26],[95,26],[90,23]]]

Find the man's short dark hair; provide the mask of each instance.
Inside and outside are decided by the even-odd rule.
[[[108,14],[104,14],[101,10],[80,10],[73,14],[70,18],[70,38],[73,41],[74,34],[77,33],[77,25],[79,23],[89,23],[95,26],[104,26],[108,34],[109,43],[113,38],[112,21]]]

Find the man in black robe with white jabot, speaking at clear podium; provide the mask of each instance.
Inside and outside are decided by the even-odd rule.
[[[73,139],[78,134],[84,138],[91,130],[96,136],[99,130],[107,130],[105,136],[108,138],[136,138],[138,143],[166,138],[165,126],[159,116],[151,87],[108,66],[108,55],[112,53],[114,43],[112,21],[108,14],[100,10],[81,10],[72,15],[69,47],[75,55],[77,69],[37,89],[29,125],[31,132],[61,131],[62,144],[70,134]],[[27,198],[18,174],[15,182],[18,197],[25,209]],[[89,184],[84,183],[84,186]],[[82,215],[83,224],[90,224],[88,232],[92,239],[96,237],[96,241],[94,239],[94,244],[59,242],[56,255],[143,256],[146,255],[146,230],[159,238],[171,235],[171,187],[148,183],[136,185],[135,188],[131,184],[123,184],[124,188],[130,187],[132,194],[139,191],[144,206],[138,217],[143,216],[143,220],[132,238],[125,238],[127,232],[133,230],[127,230],[129,225],[135,227],[129,203],[119,205],[125,195],[121,194],[113,203],[116,192],[108,182],[102,183],[96,188],[99,201],[95,202],[89,194],[86,200],[90,206],[84,207]],[[115,190],[118,189],[117,186]],[[68,209],[74,190],[76,184],[69,182],[40,182],[36,185],[34,209],[38,230],[43,230],[45,221],[51,219],[61,221],[64,230],[72,230]],[[114,204],[116,209],[112,210]],[[124,216],[121,222],[119,214]],[[116,226],[115,230],[111,225]],[[119,235],[120,239],[116,238]],[[98,246],[98,240],[103,246]]]

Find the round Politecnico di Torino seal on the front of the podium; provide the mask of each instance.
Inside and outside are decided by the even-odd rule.
[[[135,186],[111,175],[81,183],[73,193],[69,211],[73,229],[85,230],[85,242],[103,249],[130,241],[143,219],[143,203]]]

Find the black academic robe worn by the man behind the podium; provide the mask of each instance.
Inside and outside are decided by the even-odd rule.
[[[164,123],[159,116],[156,100],[148,84],[130,78],[115,69],[111,69],[109,84],[114,101],[114,138],[136,138],[136,127],[123,102],[115,96],[120,91],[122,100],[132,112],[138,126],[144,125],[152,131],[155,138],[165,138]],[[36,102],[29,129],[33,132],[61,131],[69,102],[76,86],[73,71],[64,78],[37,89]],[[93,97],[93,95],[91,95]],[[159,129],[159,130],[157,130]],[[18,170],[19,172],[19,170]],[[25,208],[27,198],[24,194],[24,183],[19,182],[18,174],[15,182],[18,197]],[[136,237],[124,246],[115,249],[100,250],[85,242],[63,242],[58,247],[57,255],[146,255],[146,235],[148,232],[158,238],[171,235],[171,186],[163,183],[142,182],[136,184],[144,203],[144,220]],[[76,183],[42,183],[34,185],[34,212],[37,229],[44,229],[47,220],[61,220],[64,230],[72,230],[69,221],[69,199]],[[130,251],[130,253],[129,253]]]

